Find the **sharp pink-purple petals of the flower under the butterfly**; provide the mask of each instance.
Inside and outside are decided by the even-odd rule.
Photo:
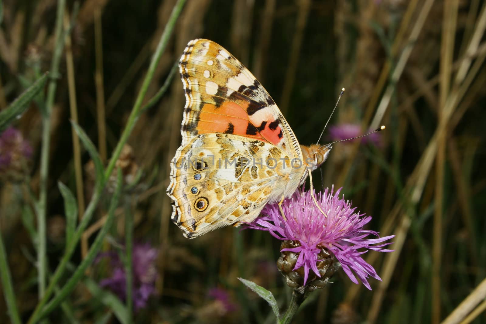
[[[358,284],[354,276],[363,282],[364,286],[371,290],[367,281],[369,276],[381,280],[375,269],[361,257],[367,250],[380,252],[392,252],[383,249],[391,244],[386,240],[394,235],[380,238],[377,232],[364,230],[363,226],[371,221],[371,216],[355,213],[348,201],[339,199],[338,189],[335,193],[334,187],[327,188],[324,193],[319,192],[316,200],[328,217],[322,215],[314,204],[310,191],[297,191],[295,195],[286,199],[283,204],[283,211],[286,215],[284,220],[278,209],[278,205],[267,205],[263,208],[260,216],[247,227],[268,231],[271,235],[281,240],[298,241],[300,246],[295,248],[282,249],[299,253],[294,271],[304,267],[304,285],[307,283],[309,270],[318,276],[319,271],[316,262],[322,248],[328,249],[341,263],[343,270],[352,282]],[[377,236],[377,239],[365,239],[368,235]],[[358,251],[362,249],[362,251]]]

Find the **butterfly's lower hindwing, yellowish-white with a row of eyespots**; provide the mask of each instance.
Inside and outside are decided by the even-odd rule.
[[[172,220],[187,238],[252,222],[280,199],[293,170],[276,146],[233,134],[194,136],[178,153],[168,194]]]

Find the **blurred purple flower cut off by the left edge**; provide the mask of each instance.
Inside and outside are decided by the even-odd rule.
[[[22,133],[10,126],[0,134],[0,171],[18,165],[24,159],[32,157],[32,147]]]

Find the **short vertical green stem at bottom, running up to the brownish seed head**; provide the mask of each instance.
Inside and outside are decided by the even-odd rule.
[[[125,278],[126,278],[126,311],[127,324],[132,323],[133,317],[133,214],[132,200],[127,195],[125,197]]]

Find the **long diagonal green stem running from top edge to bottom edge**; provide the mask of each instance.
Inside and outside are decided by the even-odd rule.
[[[108,179],[111,172],[113,172],[116,160],[120,157],[121,148],[126,143],[128,136],[130,136],[130,134],[131,134],[131,132],[132,132],[134,126],[135,126],[135,123],[136,123],[138,116],[139,116],[139,110],[140,110],[140,107],[141,107],[143,97],[147,93],[148,86],[149,86],[150,81],[152,80],[152,78],[154,76],[154,73],[155,73],[156,65],[157,65],[158,61],[160,60],[162,53],[165,51],[165,48],[167,47],[167,43],[169,41],[170,35],[172,34],[174,27],[175,27],[175,22],[177,21],[177,18],[179,17],[180,12],[182,11],[182,7],[184,6],[185,2],[186,2],[186,0],[178,0],[177,3],[174,6],[174,9],[171,13],[171,17],[169,18],[169,21],[168,21],[168,23],[165,27],[164,33],[160,37],[159,43],[157,45],[157,49],[156,49],[154,55],[152,56],[152,61],[150,63],[147,75],[145,76],[145,80],[144,80],[144,82],[143,82],[143,84],[140,88],[139,95],[138,95],[137,100],[134,104],[132,112],[130,113],[127,124],[125,126],[125,129],[123,130],[121,138],[120,138],[120,140],[117,144],[117,147],[116,147],[116,149],[115,149],[115,151],[114,151],[114,153],[113,153],[113,155],[110,159],[108,167],[105,171],[105,175],[108,175],[108,176],[105,176],[104,179],[101,179],[99,185],[96,186],[95,192],[93,193],[91,201],[89,202],[89,204],[86,208],[85,214],[83,215],[83,218],[81,219],[81,222],[80,222],[76,232],[74,233],[74,235],[73,235],[73,237],[72,237],[72,239],[69,243],[69,246],[66,248],[66,252],[65,252],[64,256],[62,257],[61,262],[59,263],[59,265],[57,266],[57,269],[55,270],[54,274],[52,275],[52,280],[50,281],[49,286],[46,289],[46,292],[45,292],[43,298],[39,301],[39,303],[35,307],[35,310],[34,310],[32,316],[31,316],[31,318],[28,322],[29,324],[35,323],[37,321],[37,319],[39,318],[42,307],[44,307],[44,305],[47,303],[47,301],[51,297],[52,291],[54,289],[54,285],[59,281],[59,279],[64,274],[64,270],[66,269],[66,266],[69,262],[69,259],[72,256],[74,250],[76,249],[77,243],[78,243],[79,239],[81,238],[81,236],[82,236],[84,230],[86,229],[87,225],[89,224],[91,217],[93,216],[93,213],[96,209],[96,206],[98,205],[98,202],[100,201],[101,195],[103,193],[103,189],[104,189],[104,186],[105,186],[105,183],[106,183],[106,179]],[[106,222],[104,224],[104,227],[102,228],[102,231],[104,230],[104,228],[107,225],[108,224]],[[91,248],[90,252],[91,251],[94,251],[94,250]],[[98,251],[95,251],[95,252],[98,252]],[[85,259],[85,261],[86,261],[86,259]],[[83,261],[83,263],[84,263],[84,261]],[[81,267],[81,265],[80,265],[80,267]],[[78,269],[79,269],[79,267],[78,267]],[[71,277],[71,279],[72,278],[73,277]],[[79,281],[79,278],[76,280],[76,282],[77,281]],[[58,296],[60,296],[60,295],[58,295]],[[57,299],[57,297],[55,299]],[[53,305],[53,301],[46,307],[46,309],[48,309],[49,306]],[[46,314],[46,311],[44,311],[43,314]]]

